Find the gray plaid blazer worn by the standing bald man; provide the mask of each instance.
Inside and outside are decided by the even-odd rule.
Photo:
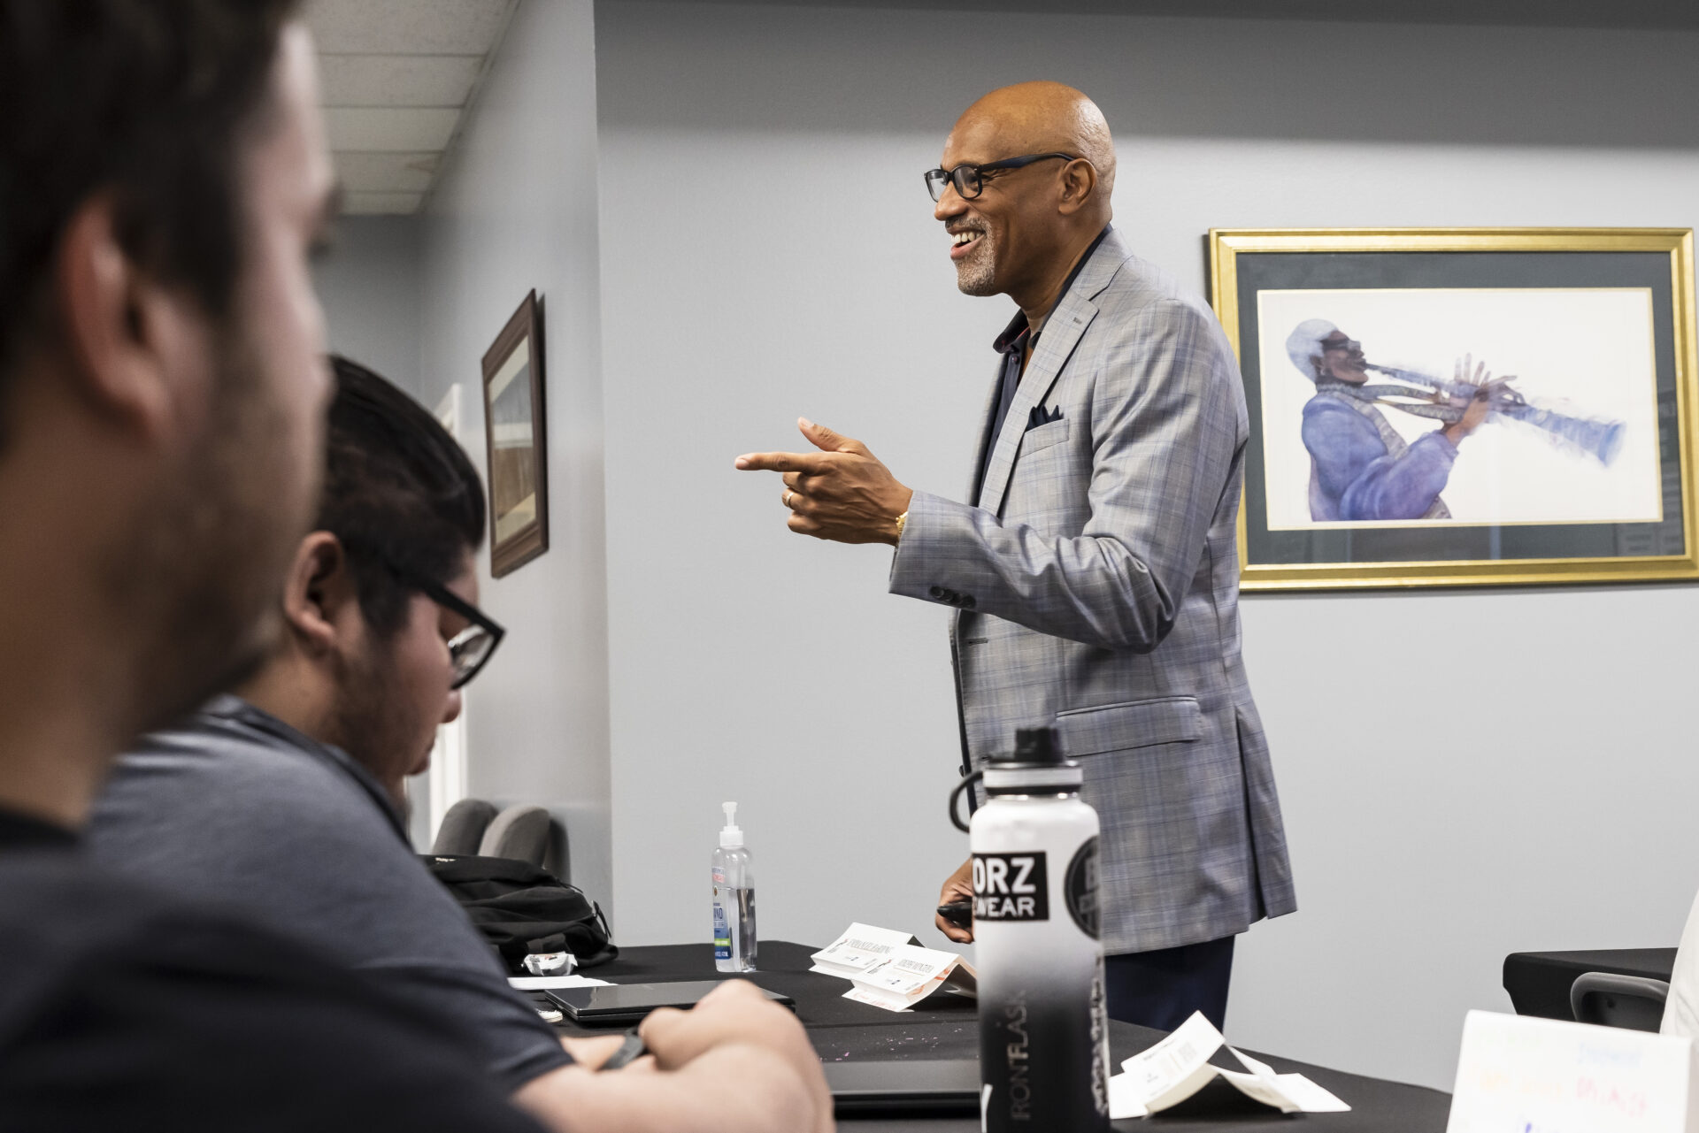
[[[1060,418],[1028,428],[1035,406]],[[1291,912],[1239,651],[1245,396],[1215,316],[1111,231],[997,437],[989,418],[979,506],[914,493],[890,576],[895,595],[957,608],[963,758],[1057,724],[1103,822],[1111,955]]]

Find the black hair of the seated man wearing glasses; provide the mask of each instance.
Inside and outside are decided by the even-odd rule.
[[[325,493],[314,527],[348,555],[379,637],[406,620],[404,576],[447,584],[484,540],[484,484],[437,418],[358,362],[331,355]]]

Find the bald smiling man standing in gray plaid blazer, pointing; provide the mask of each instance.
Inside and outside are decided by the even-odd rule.
[[[1227,1014],[1233,936],[1296,907],[1239,649],[1235,521],[1249,435],[1210,309],[1109,226],[1115,146],[1060,83],[996,90],[926,173],[957,285],[1019,306],[972,504],[911,491],[858,440],[749,454],[790,530],[897,549],[890,593],[957,610],[963,771],[1055,720],[1103,822],[1109,1016]],[[941,900],[972,897],[968,865]],[[972,933],[943,919],[957,941]]]

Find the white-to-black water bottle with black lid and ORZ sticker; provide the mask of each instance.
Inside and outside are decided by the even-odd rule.
[[[984,1130],[1106,1131],[1098,812],[1052,727],[1016,732],[984,775],[968,827]]]

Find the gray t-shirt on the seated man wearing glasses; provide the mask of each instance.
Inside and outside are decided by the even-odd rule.
[[[377,780],[245,700],[143,737],[87,846],[105,868],[233,909],[462,1021],[508,1091],[571,1062],[408,846]]]

